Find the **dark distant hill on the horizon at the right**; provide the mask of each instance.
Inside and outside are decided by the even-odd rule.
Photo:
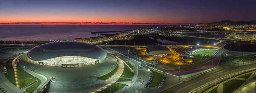
[[[256,20],[254,21],[230,21],[222,20],[220,22],[207,23],[207,24],[216,24],[216,25],[256,25]]]

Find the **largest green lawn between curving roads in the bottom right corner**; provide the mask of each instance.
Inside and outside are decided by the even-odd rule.
[[[232,93],[244,83],[244,80],[232,79],[223,84],[223,93]]]

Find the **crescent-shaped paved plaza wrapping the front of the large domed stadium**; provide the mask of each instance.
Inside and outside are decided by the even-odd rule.
[[[116,65],[116,60],[108,55],[106,61],[95,64],[79,66],[76,68],[61,68],[54,66],[38,65],[29,62],[25,59],[26,55],[22,56],[20,60],[20,66],[26,66],[26,69],[33,70],[35,73],[42,74],[47,78],[55,77],[59,81],[73,81],[79,79],[87,79],[94,75],[101,76],[114,69],[113,65]],[[32,67],[32,69],[31,69]]]

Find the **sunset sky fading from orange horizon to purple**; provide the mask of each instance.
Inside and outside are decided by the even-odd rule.
[[[256,20],[256,0],[0,0],[0,23]]]

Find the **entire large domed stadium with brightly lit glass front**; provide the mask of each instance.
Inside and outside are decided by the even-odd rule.
[[[38,65],[77,67],[92,65],[105,60],[106,52],[83,42],[51,42],[28,51],[26,60]]]

